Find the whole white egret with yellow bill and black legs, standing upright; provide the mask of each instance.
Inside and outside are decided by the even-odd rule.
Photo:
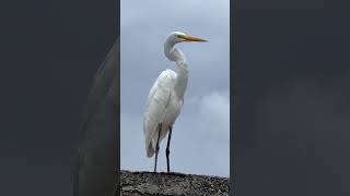
[[[187,88],[188,69],[185,54],[174,46],[183,41],[207,41],[201,38],[192,37],[180,32],[171,33],[164,44],[164,53],[170,61],[174,61],[177,71],[165,70],[153,84],[143,115],[143,132],[145,136],[147,156],[153,157],[154,172],[156,172],[156,160],[160,143],[168,132],[166,145],[166,163],[170,172],[170,143],[172,137],[173,124],[178,117],[183,103],[184,94]]]

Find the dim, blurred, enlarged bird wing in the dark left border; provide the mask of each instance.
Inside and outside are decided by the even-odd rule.
[[[118,184],[119,39],[95,74],[81,124],[74,196],[113,196]]]

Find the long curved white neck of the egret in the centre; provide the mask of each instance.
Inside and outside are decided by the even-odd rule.
[[[175,61],[177,65],[177,77],[175,83],[175,93],[178,99],[183,99],[188,82],[188,69],[185,54],[177,48],[175,48],[176,42],[165,41],[164,53],[168,60]]]

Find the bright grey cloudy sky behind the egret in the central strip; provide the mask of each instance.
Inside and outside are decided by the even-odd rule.
[[[163,54],[174,30],[206,38],[179,44],[188,61],[185,103],[175,122],[171,170],[209,175],[230,174],[230,1],[122,0],[120,2],[121,112],[120,168],[153,171],[147,158],[142,115],[153,83],[165,69],[176,70]],[[166,171],[166,139],[159,171]]]

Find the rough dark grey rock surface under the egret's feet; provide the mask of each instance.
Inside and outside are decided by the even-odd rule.
[[[229,177],[121,171],[122,196],[229,196]]]

